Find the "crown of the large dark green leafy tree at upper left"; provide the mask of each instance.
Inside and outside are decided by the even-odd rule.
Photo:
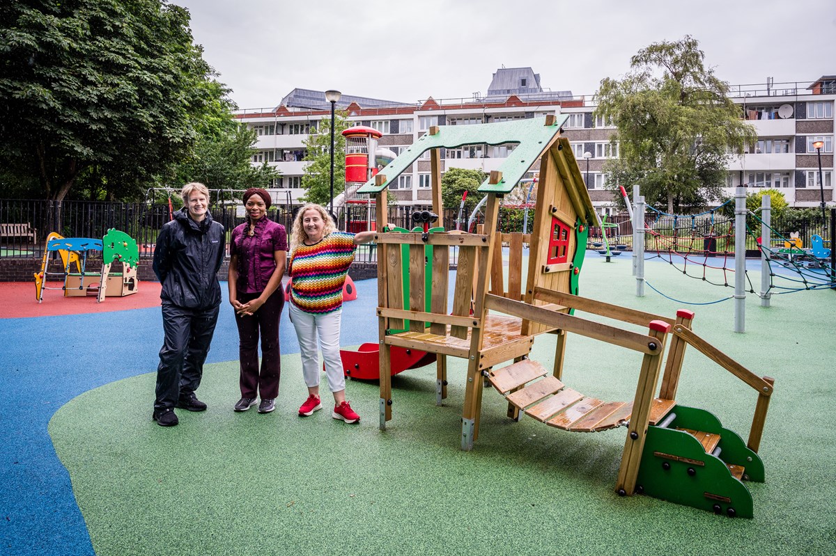
[[[52,200],[79,178],[141,189],[217,100],[189,13],[161,0],[7,0],[0,52],[0,163]]]

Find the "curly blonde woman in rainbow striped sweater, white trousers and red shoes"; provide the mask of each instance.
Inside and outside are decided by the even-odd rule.
[[[302,355],[302,373],[308,399],[300,416],[322,409],[319,399],[319,354],[325,361],[328,386],[334,394],[334,419],[359,422],[359,415],[345,401],[345,377],[339,357],[339,321],[343,284],[354,261],[357,245],[369,243],[374,231],[349,234],[336,230],[323,206],[308,203],[293,220],[290,232],[290,320],[296,329]]]

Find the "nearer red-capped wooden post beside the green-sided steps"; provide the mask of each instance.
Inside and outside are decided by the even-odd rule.
[[[619,478],[615,483],[615,492],[619,493],[619,496],[632,496],[635,490],[641,452],[645,449],[647,427],[650,423],[650,407],[653,405],[653,394],[656,390],[656,382],[659,380],[668,332],[670,332],[670,324],[667,322],[650,322],[650,336],[655,338],[655,342],[652,343],[656,344],[656,349],[653,354],[646,354],[641,362],[639,383],[633,400],[633,415],[627,427],[627,440],[624,442],[624,452],[621,456]]]

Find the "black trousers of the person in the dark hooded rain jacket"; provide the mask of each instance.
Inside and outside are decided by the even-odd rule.
[[[162,306],[166,334],[157,366],[155,409],[173,408],[181,394],[201,385],[203,363],[217,325],[221,307],[196,310],[171,304]]]

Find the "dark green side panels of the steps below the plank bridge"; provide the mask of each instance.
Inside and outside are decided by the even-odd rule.
[[[757,454],[742,446],[740,437],[721,427],[709,412],[684,406],[675,406],[671,412],[676,418],[670,427],[647,429],[636,490],[692,508],[752,518],[752,493],[732,476],[726,463],[742,465],[746,467],[744,477],[762,480],[763,466]],[[677,428],[720,434],[719,457],[706,453],[696,437]]]

